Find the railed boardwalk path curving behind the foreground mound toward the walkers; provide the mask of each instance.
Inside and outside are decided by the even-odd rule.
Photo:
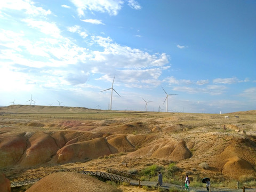
[[[56,172],[78,172],[82,174],[92,175],[94,177],[104,178],[107,180],[113,180],[115,182],[126,182],[130,183],[130,185],[133,186],[149,186],[149,187],[158,187],[156,185],[156,181],[140,181],[139,176],[135,174],[130,174],[122,171],[116,171],[116,170],[108,170],[108,172],[102,172],[102,171],[85,171],[84,167],[77,167],[74,169],[66,169],[66,170],[57,170],[47,173],[37,173],[37,174],[30,174],[30,175],[23,175],[20,177],[11,177],[8,178],[11,181],[11,187],[20,187],[25,186],[29,184],[33,184],[37,182],[38,180],[46,177],[49,174],[56,173]],[[163,189],[170,189],[170,188],[178,188],[178,189],[184,189],[185,186],[175,185],[172,183],[163,183],[163,185],[160,188]],[[191,191],[195,192],[207,192],[206,188],[194,188],[190,187]],[[243,192],[243,189],[228,189],[228,188],[214,188],[211,187],[211,191],[218,191],[218,192]],[[245,189],[245,191],[253,192],[255,189]]]

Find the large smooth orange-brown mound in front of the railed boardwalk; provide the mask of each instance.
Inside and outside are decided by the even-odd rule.
[[[26,192],[49,191],[119,192],[120,190],[88,175],[73,172],[50,174],[26,190]]]

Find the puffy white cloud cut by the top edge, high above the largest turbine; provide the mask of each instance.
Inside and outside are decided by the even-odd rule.
[[[117,15],[122,9],[121,0],[70,0],[76,7],[79,16],[84,16],[84,11],[97,11],[102,13],[108,13],[110,15]]]

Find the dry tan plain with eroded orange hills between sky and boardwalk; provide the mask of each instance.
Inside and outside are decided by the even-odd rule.
[[[181,182],[185,174],[216,183],[255,180],[256,110],[191,114],[0,107],[0,172],[6,177],[73,167],[137,172],[170,163],[178,167],[175,179]]]

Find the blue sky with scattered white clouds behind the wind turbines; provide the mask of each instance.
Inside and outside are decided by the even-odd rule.
[[[256,1],[0,3],[0,106],[256,109]],[[163,87],[163,89],[162,89]],[[142,99],[143,98],[143,99]],[[164,103],[165,101],[165,103]],[[32,103],[33,105],[33,103]]]

